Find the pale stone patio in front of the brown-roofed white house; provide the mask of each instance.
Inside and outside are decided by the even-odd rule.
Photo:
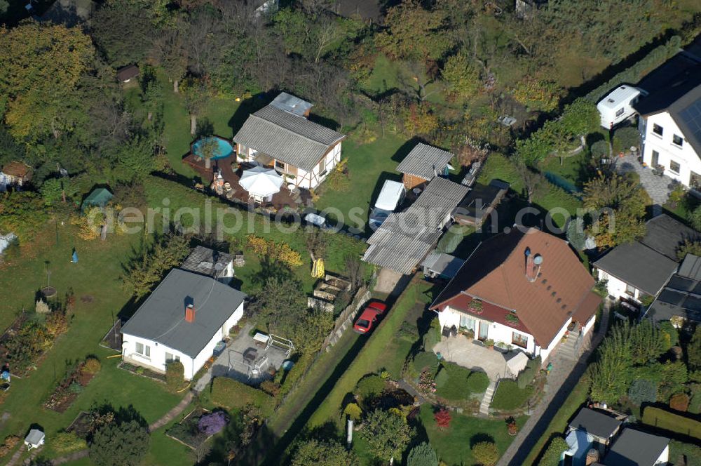
[[[447,361],[454,362],[458,366],[471,371],[485,372],[493,382],[505,376],[508,355],[498,349],[488,349],[475,340],[468,340],[465,335],[441,338],[433,348],[433,352],[440,353]]]

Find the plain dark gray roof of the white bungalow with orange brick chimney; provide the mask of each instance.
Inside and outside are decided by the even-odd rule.
[[[122,327],[122,333],[125,340],[134,335],[196,357],[245,297],[210,277],[172,269]],[[185,321],[188,303],[196,309],[194,322]]]

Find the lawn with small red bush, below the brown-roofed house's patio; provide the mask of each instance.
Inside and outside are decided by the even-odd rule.
[[[441,430],[433,419],[433,406],[421,406],[420,420],[430,444],[435,448],[439,459],[449,466],[475,464],[470,448],[479,441],[494,441],[499,452],[503,453],[513,440],[504,420],[486,420],[457,413],[451,415],[450,427]],[[521,427],[526,419],[526,416],[517,418],[517,425]]]

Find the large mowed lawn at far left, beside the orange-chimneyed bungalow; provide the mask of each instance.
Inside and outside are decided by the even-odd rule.
[[[46,286],[47,267],[51,285],[57,288],[61,299],[69,287],[76,295],[67,333],[47,350],[36,371],[27,378],[13,379],[1,406],[1,411],[11,417],[2,425],[0,437],[24,437],[29,426],[37,423],[47,435],[43,453],[46,456],[55,455],[51,437],[68,427],[77,413],[95,404],[109,403],[115,408],[132,405],[147,422],[154,422],[182,397],[166,392],[163,384],[118,369],[118,359],[107,359],[115,353],[98,345],[130,298],[119,277],[122,262],[131,255],[135,235],[110,235],[105,242],[86,242],[78,239],[74,228],[68,225],[59,225],[58,231],[56,243],[55,224],[50,222],[36,233],[36,244],[8,258],[0,269],[0,289],[12,291],[4,293],[0,303],[0,324],[4,327],[22,308],[33,309],[36,291]],[[75,264],[70,262],[73,248],[79,255]],[[43,401],[64,377],[67,361],[81,360],[88,354],[100,358],[102,371],[65,413],[43,409]]]

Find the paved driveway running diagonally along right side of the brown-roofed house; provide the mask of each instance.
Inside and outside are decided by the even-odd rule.
[[[552,361],[552,371],[547,376],[543,399],[540,400],[538,406],[531,413],[531,417],[526,420],[514,441],[506,449],[497,466],[524,465],[526,456],[531,453],[531,448],[543,436],[553,416],[587,370],[587,359],[590,354],[606,335],[610,310],[608,304],[608,300],[606,300],[599,331],[592,338],[590,347],[583,352],[576,362],[571,361],[569,357],[558,357],[555,354],[554,361]]]

